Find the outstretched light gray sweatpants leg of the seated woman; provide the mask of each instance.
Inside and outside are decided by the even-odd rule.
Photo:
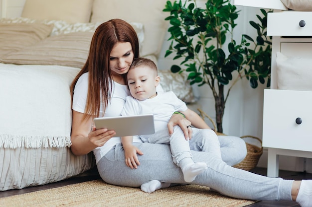
[[[222,141],[221,152],[222,158]],[[110,184],[140,187],[142,184],[159,180],[166,183],[185,183],[183,173],[172,162],[170,146],[148,142],[134,143],[144,155],[139,155],[141,165],[131,169],[125,164],[122,144],[111,149],[98,163],[102,179]],[[239,150],[239,149],[236,149]],[[250,200],[291,200],[293,180],[269,178],[227,165],[218,155],[191,150],[194,162],[205,162],[207,169],[197,175],[191,184],[207,186],[221,194]],[[231,154],[232,156],[234,154]],[[230,156],[227,154],[225,157]]]

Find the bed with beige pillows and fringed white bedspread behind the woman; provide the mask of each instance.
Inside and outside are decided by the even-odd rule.
[[[92,153],[70,151],[71,81],[94,30],[111,18],[131,23],[141,56],[157,63],[167,29],[165,1],[0,0],[0,191],[60,181],[95,166]],[[160,76],[164,90],[195,101],[185,76],[168,70]]]

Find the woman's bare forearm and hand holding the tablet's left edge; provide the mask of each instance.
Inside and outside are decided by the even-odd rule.
[[[73,110],[71,129],[71,151],[75,155],[88,154],[98,146],[103,146],[116,133],[107,129],[96,130],[92,127],[92,116],[83,120],[83,113]],[[91,129],[92,128],[92,129]]]

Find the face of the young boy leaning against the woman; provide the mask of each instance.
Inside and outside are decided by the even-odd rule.
[[[128,86],[131,95],[138,100],[145,100],[156,96],[156,86],[159,76],[153,69],[146,66],[132,68],[127,74]]]

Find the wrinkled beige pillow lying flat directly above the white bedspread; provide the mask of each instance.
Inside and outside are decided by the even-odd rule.
[[[0,62],[16,65],[60,65],[82,68],[87,60],[92,32],[74,32],[48,37],[3,57]]]

